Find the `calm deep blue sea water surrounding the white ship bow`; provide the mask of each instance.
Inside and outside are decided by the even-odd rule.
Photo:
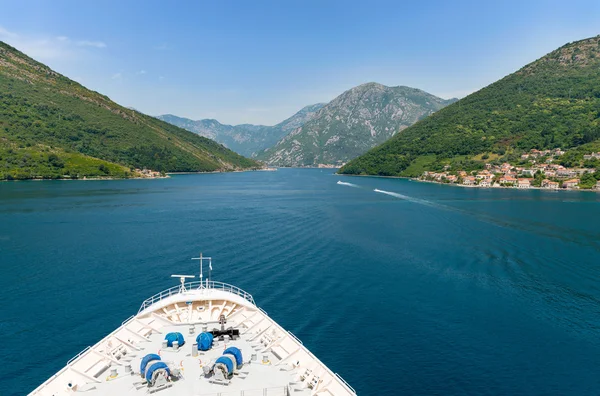
[[[283,169],[0,183],[0,395],[200,251],[361,395],[600,394],[600,194]]]

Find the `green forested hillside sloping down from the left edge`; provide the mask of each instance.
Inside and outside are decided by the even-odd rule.
[[[0,180],[256,166],[210,139],[119,106],[0,42]]]

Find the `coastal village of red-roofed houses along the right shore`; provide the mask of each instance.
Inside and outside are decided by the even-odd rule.
[[[452,170],[450,165],[446,165],[443,172],[424,172],[419,180],[481,188],[592,189],[600,192],[600,181],[589,182],[596,169],[560,165],[557,159],[563,154],[565,152],[560,148],[543,151],[533,149],[521,155],[521,163],[526,162],[525,165],[486,163],[485,169],[471,172]],[[586,154],[583,159],[600,161],[600,152]],[[588,179],[586,183],[582,182],[584,178]]]

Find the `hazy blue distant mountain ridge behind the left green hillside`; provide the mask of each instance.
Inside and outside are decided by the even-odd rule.
[[[213,119],[194,121],[172,114],[160,115],[156,118],[209,139],[216,140],[231,150],[250,157],[259,151],[273,146],[292,130],[304,125],[323,106],[323,103],[306,106],[287,120],[274,126],[251,124],[225,125]]]

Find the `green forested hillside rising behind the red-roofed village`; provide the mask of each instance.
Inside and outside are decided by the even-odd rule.
[[[405,129],[340,172],[414,176],[600,139],[600,36],[569,43]],[[416,166],[418,165],[418,166]]]

